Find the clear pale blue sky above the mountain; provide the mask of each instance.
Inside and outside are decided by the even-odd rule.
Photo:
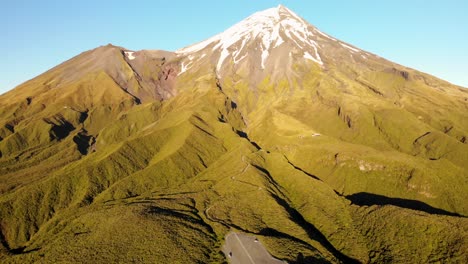
[[[468,87],[466,0],[8,0],[0,5],[0,94],[107,43],[176,50],[280,3],[340,40]]]

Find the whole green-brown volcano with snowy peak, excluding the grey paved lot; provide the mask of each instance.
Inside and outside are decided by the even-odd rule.
[[[0,96],[0,262],[468,262],[468,91],[284,6]],[[122,252],[125,252],[123,254]]]

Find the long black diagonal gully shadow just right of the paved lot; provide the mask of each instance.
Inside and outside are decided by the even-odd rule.
[[[346,256],[339,250],[337,250],[328,239],[325,237],[320,230],[318,230],[313,224],[307,222],[304,217],[296,211],[296,209],[292,208],[284,199],[273,195],[272,197],[276,200],[276,202],[281,205],[289,214],[291,219],[296,222],[304,231],[307,232],[307,235],[319,242],[324,248],[326,248],[330,253],[333,254],[337,259],[339,259],[342,263],[360,263],[358,260],[353,259],[351,257]]]

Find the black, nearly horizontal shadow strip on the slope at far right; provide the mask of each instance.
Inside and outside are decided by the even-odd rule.
[[[352,195],[345,196],[346,199],[350,200],[353,204],[359,206],[371,206],[371,205],[393,205],[401,208],[411,209],[426,212],[428,214],[448,215],[448,216],[459,216],[463,215],[445,211],[443,209],[432,207],[424,202],[417,200],[409,200],[403,198],[391,198],[383,195],[360,192]]]

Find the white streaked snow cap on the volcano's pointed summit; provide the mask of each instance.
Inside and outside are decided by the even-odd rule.
[[[297,47],[297,50],[303,51],[305,59],[323,65],[318,52],[319,45],[313,38],[314,31],[318,30],[288,8],[279,5],[254,13],[226,31],[177,50],[176,53],[188,55],[200,51],[219,52],[216,65],[219,72],[228,57],[231,56],[234,63],[239,63],[247,57],[249,48],[254,47],[261,54],[260,66],[264,69],[272,50],[288,42]]]

